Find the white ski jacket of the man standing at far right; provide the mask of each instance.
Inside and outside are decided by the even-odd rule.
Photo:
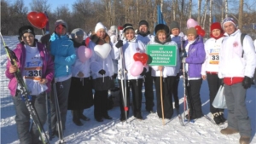
[[[246,35],[241,45],[241,32],[236,32],[225,37],[220,49],[218,78],[253,78],[256,66],[256,55],[253,40]]]

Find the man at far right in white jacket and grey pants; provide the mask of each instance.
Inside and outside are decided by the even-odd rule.
[[[224,135],[239,133],[240,143],[250,143],[252,128],[246,107],[246,91],[256,66],[253,40],[246,35],[241,44],[241,32],[235,20],[225,18],[222,22],[224,41],[220,50],[218,78],[224,78],[224,95],[228,109],[228,127]]]

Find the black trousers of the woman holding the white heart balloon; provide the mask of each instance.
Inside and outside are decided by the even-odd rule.
[[[108,116],[108,90],[95,90],[94,118]]]

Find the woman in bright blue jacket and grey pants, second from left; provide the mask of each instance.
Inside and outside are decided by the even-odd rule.
[[[72,77],[72,65],[76,60],[73,41],[67,36],[67,23],[56,20],[55,32],[50,36],[50,54],[55,64],[55,86],[61,112],[62,130],[65,130],[67,116],[67,98]],[[52,90],[53,91],[53,90]],[[52,96],[55,105],[54,96]],[[55,106],[51,107],[52,136],[57,135]]]

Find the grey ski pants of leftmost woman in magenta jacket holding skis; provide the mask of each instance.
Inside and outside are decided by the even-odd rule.
[[[46,100],[45,93],[40,95],[32,95],[32,106],[34,110],[38,113],[38,120],[35,122],[42,124],[42,128],[46,122]],[[38,128],[36,124],[32,124],[32,129],[30,130],[30,112],[28,111],[25,101],[21,99],[20,91],[17,90],[16,95],[13,97],[15,104],[15,122],[17,125],[17,133],[20,139],[20,144],[34,144],[40,143]]]

